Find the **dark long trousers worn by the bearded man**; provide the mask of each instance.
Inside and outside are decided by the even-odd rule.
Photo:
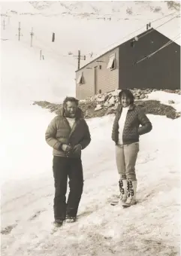
[[[54,218],[65,220],[65,215],[76,217],[83,193],[83,166],[80,158],[53,157],[53,176],[55,181]],[[66,203],[69,178],[70,193]]]

